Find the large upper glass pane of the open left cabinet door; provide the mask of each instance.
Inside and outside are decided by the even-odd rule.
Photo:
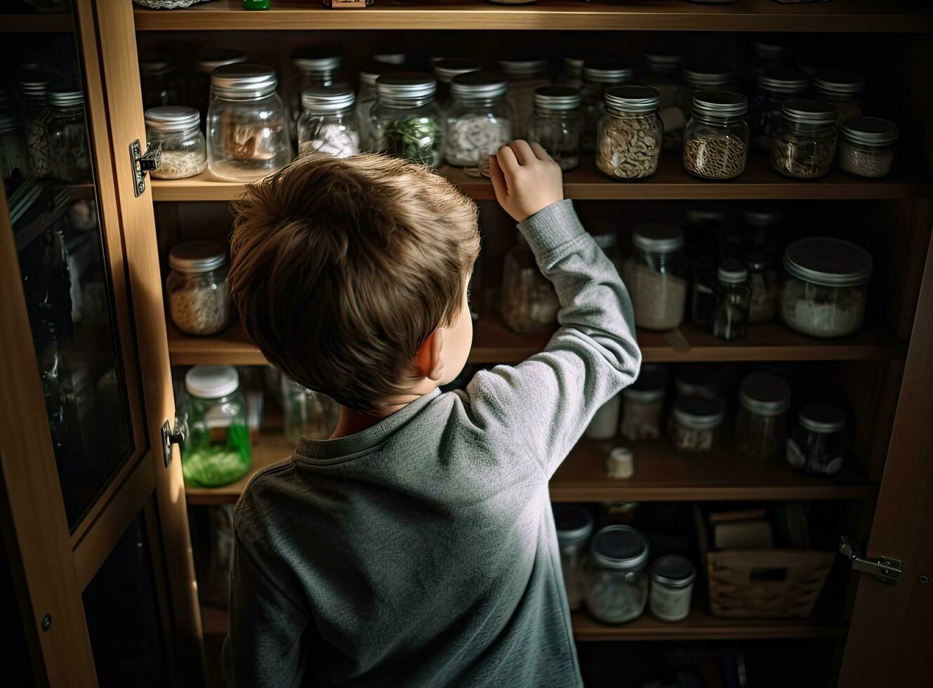
[[[0,34],[0,58],[0,170],[74,527],[133,449],[83,74],[70,33]]]

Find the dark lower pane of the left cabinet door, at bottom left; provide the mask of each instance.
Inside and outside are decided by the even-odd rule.
[[[81,597],[100,688],[168,685],[142,514],[130,524]]]

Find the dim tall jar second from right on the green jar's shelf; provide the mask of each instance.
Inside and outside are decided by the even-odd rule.
[[[752,461],[780,456],[787,439],[790,387],[777,375],[753,372],[739,386],[735,447]]]

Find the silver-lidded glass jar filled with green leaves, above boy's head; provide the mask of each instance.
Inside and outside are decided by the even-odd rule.
[[[444,122],[434,102],[438,84],[426,74],[396,72],[376,81],[378,100],[369,113],[380,152],[431,168],[440,166]]]

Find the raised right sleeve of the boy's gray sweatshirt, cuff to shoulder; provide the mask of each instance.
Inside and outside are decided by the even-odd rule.
[[[632,384],[641,352],[628,291],[573,204],[551,204],[519,230],[557,291],[560,328],[521,364],[477,373],[466,396],[487,434],[524,448],[550,478],[593,414]]]

